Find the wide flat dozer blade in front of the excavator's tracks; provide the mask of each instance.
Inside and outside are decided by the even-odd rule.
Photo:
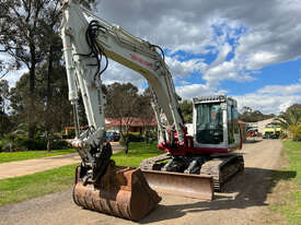
[[[213,181],[209,175],[189,175],[161,170],[142,170],[149,186],[158,192],[212,200]]]

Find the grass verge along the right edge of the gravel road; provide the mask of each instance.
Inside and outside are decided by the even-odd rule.
[[[268,196],[270,224],[301,224],[301,142],[283,141],[278,165],[281,174],[273,173],[277,183]]]

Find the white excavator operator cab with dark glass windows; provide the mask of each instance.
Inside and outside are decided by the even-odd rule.
[[[194,100],[195,146],[211,153],[241,147],[238,103],[224,95],[196,97]]]

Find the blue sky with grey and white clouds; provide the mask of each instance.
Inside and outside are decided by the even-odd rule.
[[[99,0],[96,14],[161,46],[184,99],[225,94],[264,114],[301,103],[301,0]],[[148,86],[114,61],[103,79]]]

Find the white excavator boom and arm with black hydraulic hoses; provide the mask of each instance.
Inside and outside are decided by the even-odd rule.
[[[66,2],[62,9],[61,37],[69,100],[74,111],[77,133],[73,145],[78,149],[83,164],[91,167],[88,173],[89,179],[99,178],[112,155],[111,146],[104,139],[105,96],[101,88],[101,75],[107,67],[107,58],[147,79],[152,91],[152,107],[158,120],[159,144],[182,145],[185,135],[184,125],[163,50],[132,36],[118,25],[99,19],[81,8],[76,0]],[[102,58],[105,58],[104,67],[101,67]],[[81,133],[78,119],[79,91],[89,122],[89,129]]]

